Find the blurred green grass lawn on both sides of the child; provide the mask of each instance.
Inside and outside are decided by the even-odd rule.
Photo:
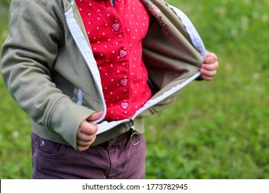
[[[190,17],[220,68],[146,119],[147,178],[268,179],[268,1],[169,2]],[[0,0],[0,45],[8,3]],[[30,179],[30,120],[2,80],[0,90],[0,178]]]

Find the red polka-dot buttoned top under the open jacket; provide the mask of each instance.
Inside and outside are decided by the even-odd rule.
[[[106,121],[126,119],[150,99],[142,39],[150,16],[139,0],[77,0],[99,68]]]

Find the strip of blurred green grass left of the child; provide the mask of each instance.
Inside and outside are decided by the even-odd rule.
[[[8,6],[8,0],[0,1],[0,45],[8,35]],[[30,179],[30,120],[0,79],[0,179]]]

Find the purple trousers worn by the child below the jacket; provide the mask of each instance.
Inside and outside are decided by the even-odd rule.
[[[146,145],[137,145],[130,133],[77,152],[68,145],[41,139],[32,133],[33,179],[144,179]]]

